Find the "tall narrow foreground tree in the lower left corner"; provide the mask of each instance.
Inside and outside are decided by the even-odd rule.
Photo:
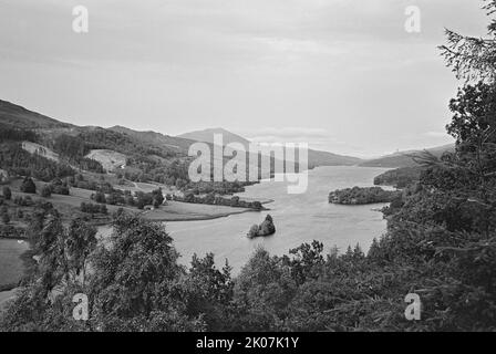
[[[34,211],[29,229],[37,235],[30,242],[34,242],[39,261],[29,270],[23,289],[0,317],[0,330],[87,330],[87,324],[78,323],[71,315],[73,295],[84,289],[70,277],[74,270],[68,258],[71,254],[65,247],[68,235],[59,214],[48,204],[43,205]]]

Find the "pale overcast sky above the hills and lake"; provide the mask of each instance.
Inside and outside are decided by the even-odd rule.
[[[90,32],[72,30],[72,8]],[[404,30],[407,6],[422,32]],[[0,0],[0,100],[78,125],[224,127],[358,156],[451,142],[444,28],[478,0]]]

